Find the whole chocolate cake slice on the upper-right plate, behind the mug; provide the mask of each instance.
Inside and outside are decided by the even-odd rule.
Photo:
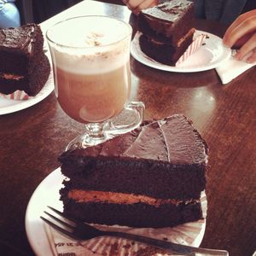
[[[160,1],[138,15],[139,43],[143,52],[156,61],[175,65],[192,43],[195,32],[194,2]]]

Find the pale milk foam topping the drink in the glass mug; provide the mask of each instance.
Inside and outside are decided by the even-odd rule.
[[[47,36],[55,66],[78,74],[110,72],[130,58],[131,26],[103,16],[66,20]]]

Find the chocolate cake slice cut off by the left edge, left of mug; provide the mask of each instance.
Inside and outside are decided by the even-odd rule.
[[[44,37],[36,24],[0,30],[0,92],[35,96],[49,77]]]

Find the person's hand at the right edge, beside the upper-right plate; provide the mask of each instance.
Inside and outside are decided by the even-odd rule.
[[[247,55],[247,62],[256,61],[256,9],[240,15],[227,29],[224,45],[238,49],[235,58],[241,61]]]

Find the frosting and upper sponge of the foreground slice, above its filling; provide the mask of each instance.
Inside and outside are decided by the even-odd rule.
[[[59,160],[67,189],[186,200],[199,199],[206,185],[207,145],[179,114]]]

